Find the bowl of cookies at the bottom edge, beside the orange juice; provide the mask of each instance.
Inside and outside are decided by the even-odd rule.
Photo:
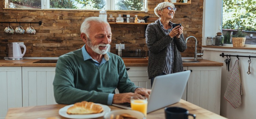
[[[141,113],[139,111],[126,110],[126,109],[110,111],[104,115],[104,119],[110,119],[110,116],[112,114],[114,115],[114,119],[115,119],[116,115],[120,115],[120,114],[129,114],[129,115],[136,117],[137,119],[146,119],[143,113]]]

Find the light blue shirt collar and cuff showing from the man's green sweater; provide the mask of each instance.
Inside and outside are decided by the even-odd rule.
[[[88,54],[88,52],[85,50],[85,45],[82,47],[82,53],[83,53],[84,61],[86,61],[86,60],[91,60],[91,61],[94,62],[94,64],[95,64],[96,66],[102,65],[102,64],[104,64],[105,62],[109,61],[109,59],[110,59],[110,56],[109,56],[109,54],[108,54],[108,52],[107,52],[106,54],[104,54],[104,57],[102,58],[101,63],[99,63],[98,61],[94,60],[94,59]],[[108,105],[112,105],[113,97],[114,97],[114,94],[109,94],[109,97],[108,97]]]

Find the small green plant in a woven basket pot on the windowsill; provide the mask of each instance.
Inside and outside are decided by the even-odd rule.
[[[239,27],[238,27],[237,33],[234,35],[231,35],[233,47],[244,47],[246,35],[247,33],[242,31],[242,27],[241,27],[241,30],[239,30]]]

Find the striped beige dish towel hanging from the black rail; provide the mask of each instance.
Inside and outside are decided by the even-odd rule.
[[[224,94],[224,98],[234,107],[237,108],[242,104],[242,83],[238,60],[228,72],[228,87]]]

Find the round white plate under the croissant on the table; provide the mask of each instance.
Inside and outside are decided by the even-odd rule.
[[[73,106],[74,104],[62,107],[61,109],[59,109],[59,115],[62,117],[66,117],[66,118],[70,118],[70,119],[90,119],[90,118],[97,118],[97,117],[101,117],[103,116],[105,113],[110,112],[110,108],[107,105],[103,105],[103,104],[98,104],[98,103],[94,103],[97,105],[100,105],[103,107],[104,111],[102,113],[98,113],[98,114],[86,114],[86,115],[69,115],[67,114],[67,110],[69,107]]]

